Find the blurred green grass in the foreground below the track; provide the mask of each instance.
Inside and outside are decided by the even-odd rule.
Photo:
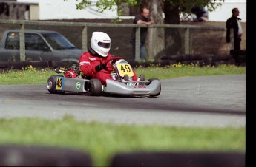
[[[38,118],[0,119],[0,143],[58,146],[88,153],[94,166],[109,166],[118,152],[245,151],[244,128],[128,126]]]

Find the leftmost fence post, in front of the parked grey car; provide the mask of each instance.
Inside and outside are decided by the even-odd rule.
[[[20,30],[19,30],[19,56],[20,61],[25,61],[25,25],[21,24]]]

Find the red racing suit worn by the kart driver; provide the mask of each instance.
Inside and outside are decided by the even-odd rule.
[[[102,85],[106,86],[107,79],[114,80],[111,77],[111,72],[114,70],[111,61],[109,61],[111,58],[113,58],[113,56],[110,53],[108,53],[108,56],[102,57],[91,55],[90,52],[84,52],[79,58],[79,67],[83,72],[83,75],[86,77],[98,78],[102,82]],[[95,67],[99,64],[105,64],[106,62],[108,62],[106,68],[97,72]],[[133,81],[137,81],[137,75],[135,72],[132,79]]]

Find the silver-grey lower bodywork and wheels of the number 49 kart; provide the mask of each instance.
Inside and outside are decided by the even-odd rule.
[[[88,80],[52,75],[47,80],[47,89],[52,94],[80,92],[92,96],[104,94],[158,96],[161,92],[161,83],[157,78],[151,78],[148,81],[114,81],[108,79],[106,83],[106,86],[102,86],[102,83],[96,78]]]

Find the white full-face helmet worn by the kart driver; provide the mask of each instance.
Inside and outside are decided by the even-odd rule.
[[[107,57],[109,50],[111,50],[111,38],[106,33],[93,32],[91,48],[102,57]]]

